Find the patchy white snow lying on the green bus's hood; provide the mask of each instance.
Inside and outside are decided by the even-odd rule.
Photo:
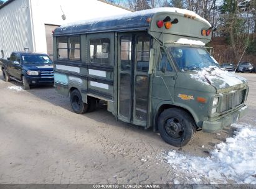
[[[191,78],[200,81],[206,85],[211,85],[214,80],[222,81],[223,83],[219,85],[219,88],[226,88],[226,85],[234,86],[242,84],[246,81],[245,78],[241,76],[229,73],[229,71],[221,70],[218,67],[208,67],[202,68],[202,70],[196,71],[196,73],[190,74]]]

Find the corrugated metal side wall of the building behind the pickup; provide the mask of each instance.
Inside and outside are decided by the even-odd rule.
[[[0,51],[7,58],[25,47],[34,50],[29,0],[16,0],[0,9]]]

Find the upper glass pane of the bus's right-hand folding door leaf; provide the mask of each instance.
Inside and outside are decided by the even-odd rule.
[[[137,71],[147,72],[149,67],[150,37],[140,36],[137,42]]]

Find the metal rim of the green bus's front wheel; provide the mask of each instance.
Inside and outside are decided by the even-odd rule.
[[[173,139],[179,139],[184,134],[183,125],[177,118],[169,118],[164,124],[166,134]]]

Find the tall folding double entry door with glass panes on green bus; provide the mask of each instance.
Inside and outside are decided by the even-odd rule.
[[[119,35],[118,119],[146,126],[148,119],[148,34]]]

